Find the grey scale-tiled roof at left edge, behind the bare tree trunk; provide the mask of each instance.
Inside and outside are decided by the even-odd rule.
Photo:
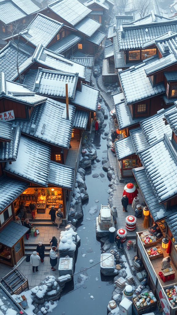
[[[18,65],[20,66],[30,57],[25,50],[10,41],[3,49],[0,50],[0,69],[5,73],[6,79],[11,80],[14,73],[17,73],[17,54]],[[17,73],[18,76],[18,73]]]

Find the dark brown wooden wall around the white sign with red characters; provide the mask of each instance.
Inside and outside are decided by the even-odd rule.
[[[0,112],[14,110],[15,118],[26,118],[26,106],[11,100],[0,100]]]

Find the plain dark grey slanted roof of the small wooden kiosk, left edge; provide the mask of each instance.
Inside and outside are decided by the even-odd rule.
[[[11,221],[8,226],[0,232],[0,243],[12,248],[28,230],[28,227]]]

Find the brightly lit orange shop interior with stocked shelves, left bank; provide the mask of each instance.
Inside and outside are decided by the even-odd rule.
[[[67,190],[60,187],[28,187],[14,201],[15,215],[20,214],[20,210],[25,207],[26,212],[30,213],[31,209],[35,210],[35,217],[50,219],[49,211],[52,206],[61,209],[63,218],[66,217],[65,197]]]

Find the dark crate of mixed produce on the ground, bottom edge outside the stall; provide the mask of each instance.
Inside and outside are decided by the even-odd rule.
[[[135,315],[146,314],[156,309],[157,300],[152,293],[148,291],[132,298],[133,313]]]

